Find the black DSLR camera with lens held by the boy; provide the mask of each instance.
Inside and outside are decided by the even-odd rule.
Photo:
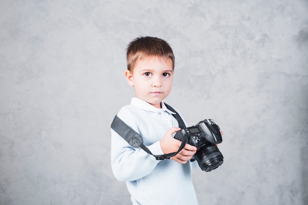
[[[210,172],[223,163],[223,156],[216,146],[222,142],[219,130],[213,119],[206,119],[195,126],[181,129],[174,138],[183,141],[188,137],[187,144],[197,148],[190,161],[197,160],[203,171]]]

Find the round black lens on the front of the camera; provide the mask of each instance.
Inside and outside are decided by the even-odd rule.
[[[223,163],[223,156],[216,145],[205,144],[195,154],[200,168],[205,172],[211,172]]]

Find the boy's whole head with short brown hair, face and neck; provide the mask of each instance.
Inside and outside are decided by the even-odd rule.
[[[173,70],[174,55],[166,41],[140,37],[128,45],[125,76],[137,98],[161,108],[171,90]]]

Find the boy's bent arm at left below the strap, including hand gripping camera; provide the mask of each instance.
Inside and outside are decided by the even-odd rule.
[[[174,139],[172,134],[181,128],[169,129],[161,141],[158,141],[147,148],[153,154],[169,154],[177,152],[181,141]],[[160,162],[151,154],[140,148],[133,148],[114,130],[111,130],[111,164],[115,177],[120,181],[133,181],[150,174]],[[178,163],[185,164],[196,153],[197,148],[186,144],[180,153],[171,157]]]

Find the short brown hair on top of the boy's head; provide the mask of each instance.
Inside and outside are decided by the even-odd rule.
[[[134,66],[139,60],[147,57],[164,57],[172,60],[174,69],[174,54],[170,45],[156,37],[139,37],[128,44],[126,52],[127,70],[133,72]]]

